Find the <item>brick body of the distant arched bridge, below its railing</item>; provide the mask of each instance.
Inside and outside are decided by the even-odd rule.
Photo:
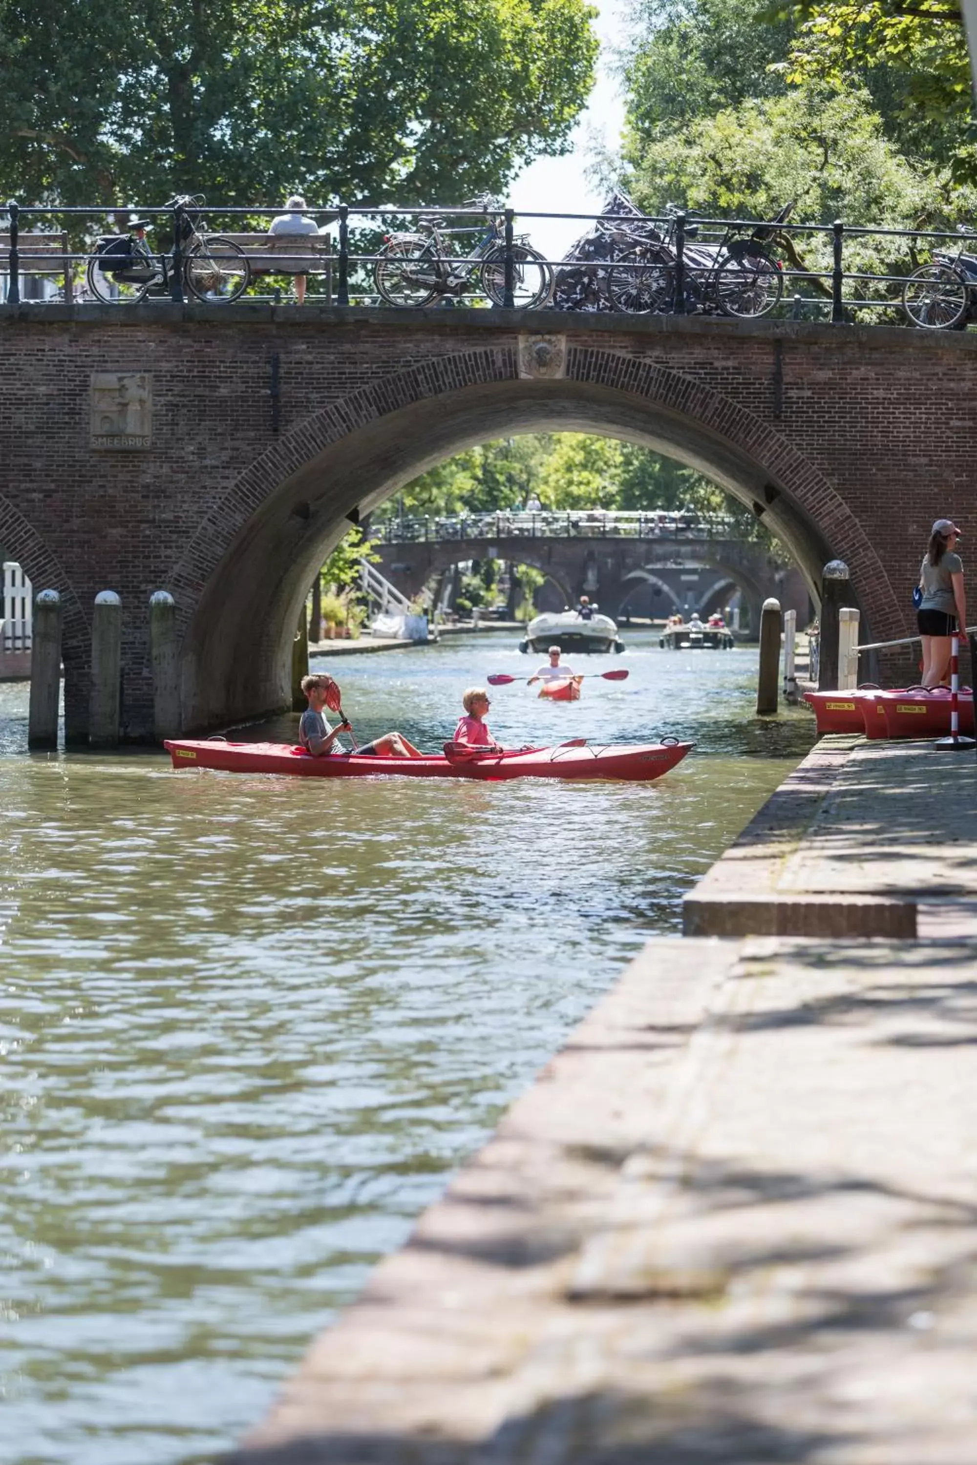
[[[760,624],[760,605],[768,595],[776,595],[782,582],[782,565],[763,546],[743,539],[727,538],[574,538],[508,536],[466,539],[425,539],[378,546],[378,568],[407,596],[435,576],[469,560],[486,560],[489,554],[514,564],[529,564],[542,570],[558,586],[567,604],[576,604],[582,592],[595,596],[601,609],[617,617],[634,590],[636,580],[662,580],[661,571],[677,568],[715,570],[716,577],[737,586],[748,605],[750,626]],[[672,586],[668,585],[669,593]]]

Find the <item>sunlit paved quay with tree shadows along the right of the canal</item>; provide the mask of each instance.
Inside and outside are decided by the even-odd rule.
[[[690,923],[918,938],[652,941],[234,1462],[974,1459],[976,784],[819,744]]]

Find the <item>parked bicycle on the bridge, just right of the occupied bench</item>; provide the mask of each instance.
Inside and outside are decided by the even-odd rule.
[[[466,205],[467,207],[467,205]],[[425,306],[441,297],[460,299],[478,281],[476,292],[492,305],[505,305],[505,212],[488,195],[476,198],[486,223],[470,253],[458,258],[450,240],[482,226],[450,227],[447,218],[426,220],[422,230],[387,234],[382,258],[374,265],[376,293],[387,305]],[[532,311],[549,300],[552,270],[524,234],[513,243],[513,302]]]

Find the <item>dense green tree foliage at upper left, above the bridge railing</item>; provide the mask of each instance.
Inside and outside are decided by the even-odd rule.
[[[0,0],[0,173],[23,202],[447,202],[561,152],[586,0]]]

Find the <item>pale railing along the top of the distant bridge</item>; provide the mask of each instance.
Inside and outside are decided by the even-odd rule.
[[[450,517],[397,516],[371,526],[381,544],[445,539],[721,539],[738,535],[728,514],[665,510],[498,510]]]

